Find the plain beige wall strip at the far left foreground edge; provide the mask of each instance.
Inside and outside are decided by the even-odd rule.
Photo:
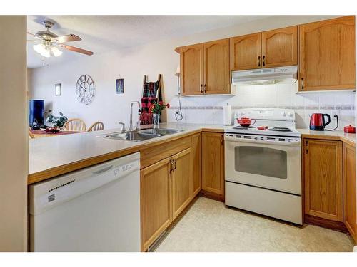
[[[0,36],[0,251],[26,251],[26,16],[0,16]]]

